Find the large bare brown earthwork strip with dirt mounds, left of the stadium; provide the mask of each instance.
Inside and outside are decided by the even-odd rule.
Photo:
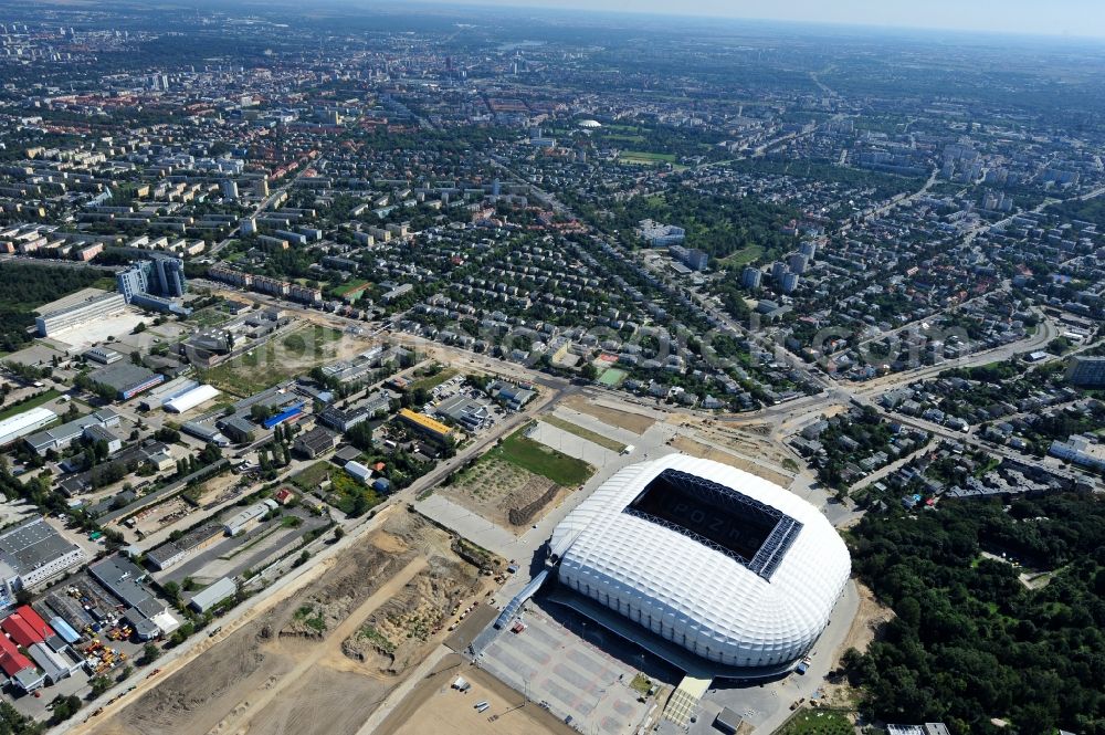
[[[324,574],[91,732],[357,733],[502,565],[403,506],[383,513]]]

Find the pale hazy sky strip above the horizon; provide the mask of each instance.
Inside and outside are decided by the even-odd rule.
[[[726,15],[1105,36],[1105,0],[436,0],[465,4]]]

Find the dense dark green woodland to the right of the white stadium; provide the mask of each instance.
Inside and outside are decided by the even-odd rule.
[[[897,613],[844,657],[869,715],[960,735],[1105,733],[1105,502],[945,501],[867,515],[850,540],[855,570]],[[1029,589],[1018,575],[1033,570],[1053,574]]]

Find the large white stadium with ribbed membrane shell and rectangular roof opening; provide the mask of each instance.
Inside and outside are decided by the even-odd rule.
[[[727,671],[797,664],[851,573],[844,542],[808,502],[681,454],[614,474],[549,548],[561,589]]]

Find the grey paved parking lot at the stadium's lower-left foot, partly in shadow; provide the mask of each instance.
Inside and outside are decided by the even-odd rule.
[[[639,701],[630,686],[642,664],[654,679],[677,673],[569,610],[547,607],[530,603],[522,616],[526,629],[501,631],[478,665],[561,720],[570,716],[580,732],[635,732],[653,707],[662,706],[655,697]]]

